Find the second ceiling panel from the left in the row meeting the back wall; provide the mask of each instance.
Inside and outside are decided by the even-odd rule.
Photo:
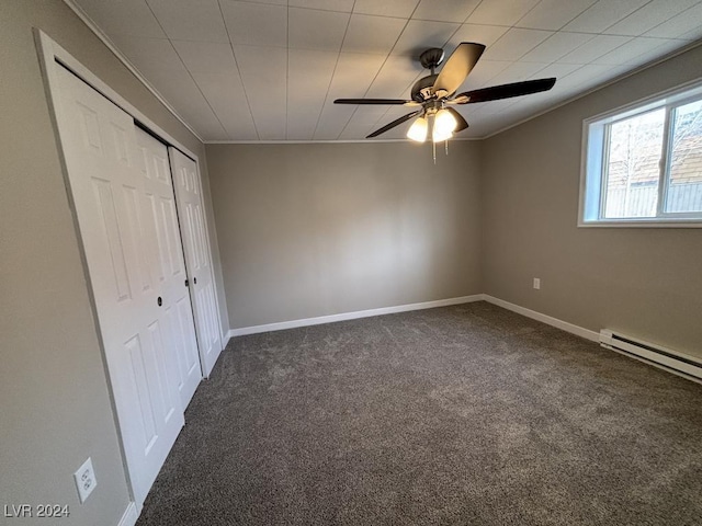
[[[228,140],[257,140],[253,117],[237,73],[195,72],[195,83],[227,132]]]

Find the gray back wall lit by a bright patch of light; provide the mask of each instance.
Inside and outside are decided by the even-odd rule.
[[[207,145],[231,328],[478,294],[479,145]]]

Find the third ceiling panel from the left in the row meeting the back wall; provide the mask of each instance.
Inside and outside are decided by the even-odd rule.
[[[235,46],[251,114],[261,140],[284,140],[287,115],[287,50]]]

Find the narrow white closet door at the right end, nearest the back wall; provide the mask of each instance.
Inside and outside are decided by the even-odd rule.
[[[185,245],[188,274],[192,278],[191,298],[195,310],[197,343],[205,376],[210,376],[222,353],[222,324],[215,295],[214,272],[210,256],[207,222],[203,210],[202,184],[197,164],[176,148],[169,148],[173,183]]]

